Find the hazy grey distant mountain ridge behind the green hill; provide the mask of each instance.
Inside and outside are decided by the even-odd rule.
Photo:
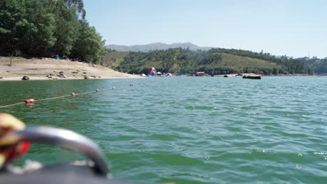
[[[214,47],[200,47],[198,45],[194,45],[193,43],[173,43],[173,44],[166,44],[166,43],[150,43],[147,45],[131,45],[131,46],[126,46],[126,45],[107,45],[106,46],[109,49],[115,49],[116,51],[133,51],[133,52],[149,52],[151,50],[162,50],[162,49],[171,49],[171,48],[182,48],[182,49],[187,49],[189,48],[190,50],[209,50]]]

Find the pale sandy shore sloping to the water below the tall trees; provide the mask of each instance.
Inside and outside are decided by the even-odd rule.
[[[88,79],[140,77],[138,75],[117,72],[99,65],[75,62],[68,59],[13,58],[12,65],[10,66],[9,57],[0,57],[0,81],[20,81],[24,75],[27,75],[29,80],[84,79],[85,76]]]

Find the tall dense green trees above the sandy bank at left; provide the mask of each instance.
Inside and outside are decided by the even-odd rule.
[[[0,1],[0,51],[96,63],[104,41],[85,15],[82,0]]]

